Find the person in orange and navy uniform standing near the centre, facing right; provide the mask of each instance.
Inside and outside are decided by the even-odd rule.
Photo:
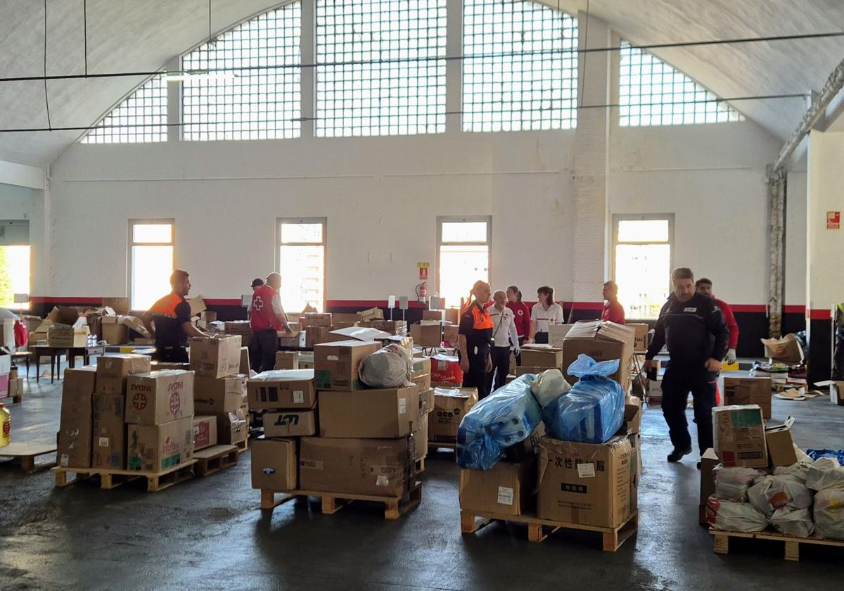
[[[490,342],[494,326],[487,307],[491,291],[490,284],[485,281],[475,282],[472,301],[460,313],[460,327],[457,329],[463,388],[478,388],[479,399],[490,393],[486,374],[492,371]]]

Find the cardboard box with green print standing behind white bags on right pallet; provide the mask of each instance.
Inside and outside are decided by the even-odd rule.
[[[758,404],[712,409],[715,452],[729,468],[766,468],[765,421]]]

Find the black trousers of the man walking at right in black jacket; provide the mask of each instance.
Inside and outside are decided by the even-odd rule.
[[[718,374],[701,367],[683,367],[674,361],[668,364],[663,377],[663,416],[668,423],[668,436],[675,449],[690,449],[691,436],[685,409],[689,393],[695,400],[697,446],[701,455],[712,447],[712,407]]]

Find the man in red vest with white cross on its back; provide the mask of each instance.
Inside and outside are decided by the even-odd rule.
[[[261,373],[275,367],[275,354],[279,350],[279,330],[290,331],[287,314],[281,306],[281,275],[267,275],[267,282],[252,292],[249,325],[252,327],[252,344],[249,362],[252,369]]]

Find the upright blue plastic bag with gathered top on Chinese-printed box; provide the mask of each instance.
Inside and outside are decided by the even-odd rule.
[[[543,410],[549,436],[582,443],[603,443],[614,436],[625,419],[625,391],[607,376],[618,369],[617,359],[596,362],[578,355],[569,373],[580,382]]]

